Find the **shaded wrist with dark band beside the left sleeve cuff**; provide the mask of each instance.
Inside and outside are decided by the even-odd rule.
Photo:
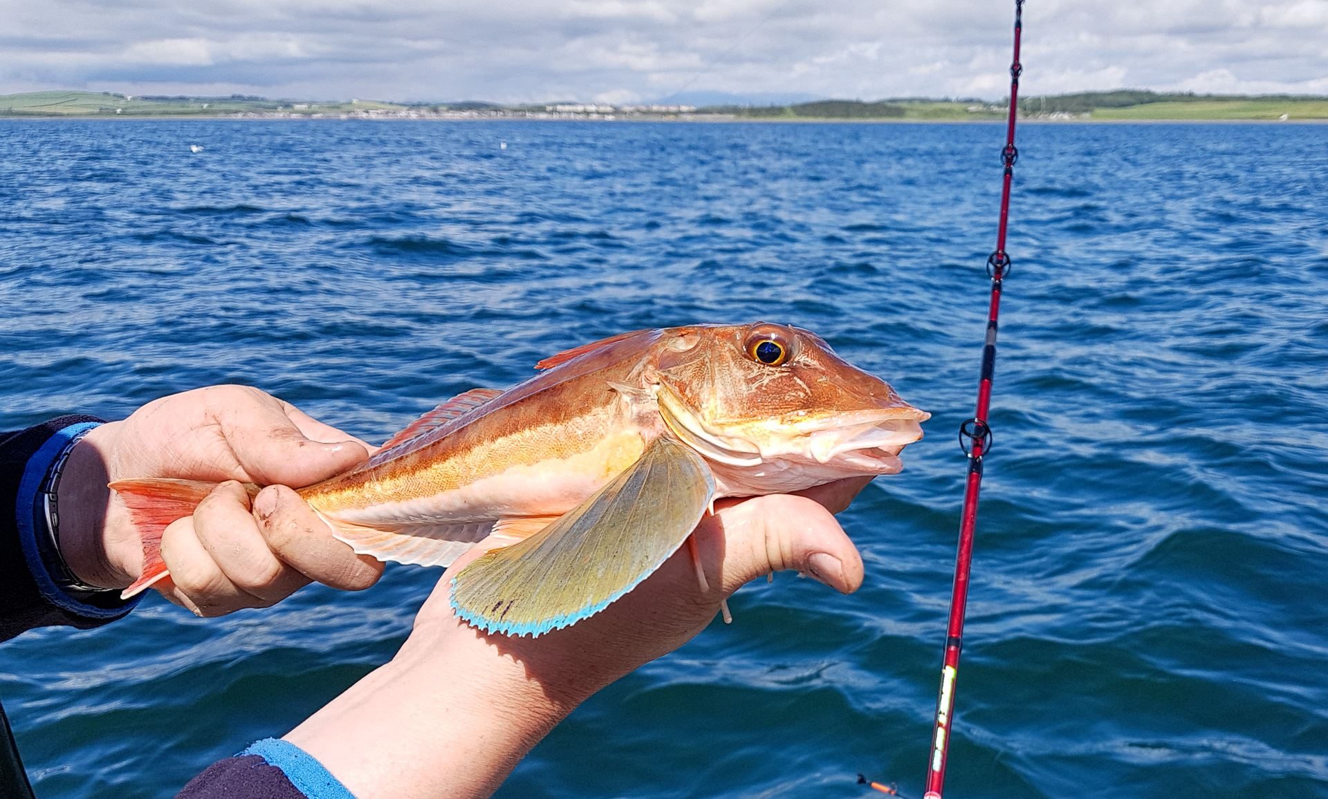
[[[125,567],[125,547],[108,545],[110,514],[109,465],[112,442],[120,422],[102,425],[84,435],[69,453],[56,488],[60,507],[60,555],[82,583],[124,588],[133,581]]]

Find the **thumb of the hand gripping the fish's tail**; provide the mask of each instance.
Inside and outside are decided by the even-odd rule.
[[[222,419],[222,433],[235,459],[260,486],[300,488],[345,471],[369,457],[363,442],[333,427],[327,430],[340,433],[345,441],[308,438],[276,403]]]

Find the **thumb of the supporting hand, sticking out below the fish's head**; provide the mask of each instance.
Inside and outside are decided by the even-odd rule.
[[[862,585],[858,548],[834,515],[806,496],[773,494],[734,503],[706,518],[697,534],[703,560],[722,563],[725,595],[782,569],[798,571],[841,593]]]

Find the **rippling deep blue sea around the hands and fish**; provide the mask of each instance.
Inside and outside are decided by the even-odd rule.
[[[841,516],[862,589],[745,587],[498,796],[918,799],[1003,138],[0,121],[0,429],[244,382],[381,441],[607,334],[817,330],[934,414]],[[947,795],[1328,796],[1328,126],[1019,143]],[[437,580],[4,644],[37,794],[173,795],[386,661]]]

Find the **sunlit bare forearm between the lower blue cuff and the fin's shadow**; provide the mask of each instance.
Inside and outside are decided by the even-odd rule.
[[[591,690],[555,695],[519,654],[454,620],[286,735],[360,799],[489,796]]]

